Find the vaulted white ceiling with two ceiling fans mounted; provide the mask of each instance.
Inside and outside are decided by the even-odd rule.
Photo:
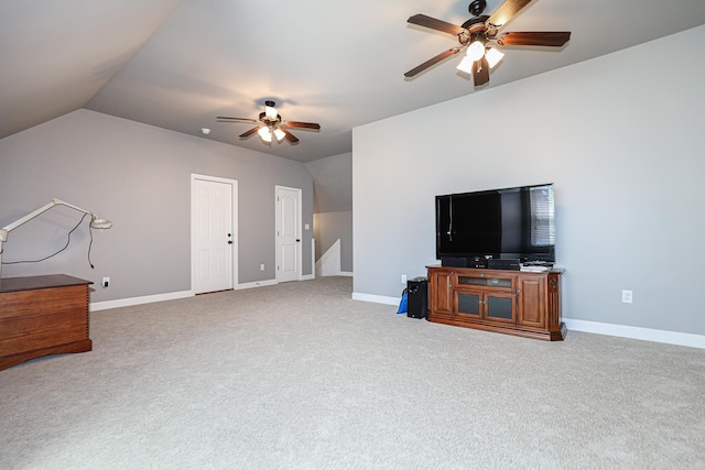
[[[487,0],[490,14],[500,0]],[[503,47],[481,88],[459,56],[404,73],[457,44],[406,19],[462,24],[469,0],[0,0],[0,138],[79,108],[300,162],[351,152],[351,129],[705,24],[703,0],[533,0],[502,31],[571,31],[560,51]],[[694,57],[693,59],[702,59]],[[663,86],[677,66],[654,57]],[[605,77],[609,79],[609,77]],[[599,84],[596,84],[599,86]],[[319,132],[264,145],[265,99]],[[213,132],[205,136],[200,128]]]

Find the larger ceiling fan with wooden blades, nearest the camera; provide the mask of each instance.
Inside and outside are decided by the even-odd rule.
[[[489,81],[489,69],[497,65],[505,55],[494,48],[494,45],[561,47],[568,42],[571,39],[570,31],[499,33],[499,29],[530,2],[531,0],[506,0],[491,15],[484,15],[482,12],[487,7],[486,0],[474,0],[468,7],[473,18],[459,26],[425,14],[414,14],[409,18],[409,23],[453,34],[457,36],[460,45],[442,52],[406,72],[404,76],[411,78],[467,47],[467,55],[457,68],[467,74],[473,74],[475,86],[479,86]]]

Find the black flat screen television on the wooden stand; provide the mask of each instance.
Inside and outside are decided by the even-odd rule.
[[[436,196],[436,259],[555,262],[553,184]]]

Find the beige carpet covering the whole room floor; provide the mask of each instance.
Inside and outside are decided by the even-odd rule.
[[[97,311],[94,351],[0,371],[0,468],[705,468],[705,350],[350,294],[324,277]]]

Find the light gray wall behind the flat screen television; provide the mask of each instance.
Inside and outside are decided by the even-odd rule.
[[[704,335],[703,44],[705,26],[356,128],[355,293],[398,297],[436,262],[435,195],[553,182],[564,317]]]

